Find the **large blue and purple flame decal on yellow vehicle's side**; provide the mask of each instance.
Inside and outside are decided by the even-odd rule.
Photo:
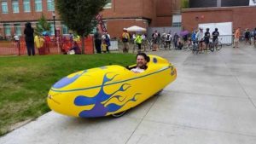
[[[120,85],[119,89],[113,91],[112,94],[106,94],[103,90],[106,83],[113,80],[113,78],[117,77],[118,75],[114,75],[112,78],[108,78],[107,75],[109,73],[106,73],[103,78],[103,82],[101,85],[101,89],[98,92],[98,94],[94,97],[88,97],[85,95],[79,95],[75,98],[74,104],[76,106],[89,106],[94,105],[92,109],[90,110],[84,110],[79,113],[79,117],[82,118],[91,118],[91,117],[102,117],[105,116],[108,112],[116,112],[120,108],[124,107],[129,101],[137,101],[136,96],[141,95],[140,93],[137,93],[132,96],[131,99],[126,99],[125,95],[116,95],[118,92],[125,92],[127,89],[131,88],[131,84],[122,84]],[[117,105],[115,103],[109,103],[109,101],[116,99],[119,102],[124,102],[122,105]]]

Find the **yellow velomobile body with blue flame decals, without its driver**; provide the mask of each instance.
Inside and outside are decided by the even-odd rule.
[[[166,59],[156,55],[149,58],[142,73],[113,65],[70,74],[49,90],[48,105],[68,116],[119,117],[176,79],[176,68]]]

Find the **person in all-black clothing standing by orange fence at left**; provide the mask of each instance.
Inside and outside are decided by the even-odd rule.
[[[34,46],[34,29],[31,26],[30,22],[25,24],[25,42],[26,42],[26,50],[27,55],[35,55],[35,46]]]

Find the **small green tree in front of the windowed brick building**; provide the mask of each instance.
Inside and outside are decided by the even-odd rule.
[[[50,29],[49,22],[46,20],[44,14],[42,14],[41,18],[38,20],[35,33],[37,35],[41,35],[42,32],[45,32],[45,31],[49,32],[49,29]]]

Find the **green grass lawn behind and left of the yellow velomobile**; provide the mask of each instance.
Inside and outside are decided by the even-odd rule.
[[[68,74],[135,61],[135,55],[123,54],[0,57],[0,135],[14,124],[49,112],[48,91]]]

